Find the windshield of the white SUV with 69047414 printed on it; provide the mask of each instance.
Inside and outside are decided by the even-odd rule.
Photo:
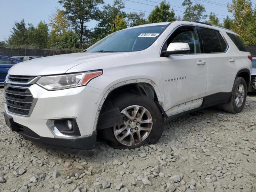
[[[152,45],[168,25],[131,28],[115,32],[86,52],[130,52],[140,51]]]

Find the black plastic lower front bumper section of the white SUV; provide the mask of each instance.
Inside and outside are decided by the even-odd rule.
[[[32,131],[26,126],[22,126],[14,122],[12,116],[4,112],[4,118],[7,126],[10,127],[12,131],[17,132],[22,135],[27,140],[34,142],[36,145],[51,149],[59,150],[70,154],[81,154],[85,156],[93,156],[96,143],[96,133],[93,132],[90,136],[80,137],[80,138],[49,138],[42,137]]]

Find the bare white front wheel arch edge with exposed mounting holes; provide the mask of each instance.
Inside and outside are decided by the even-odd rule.
[[[97,110],[96,117],[95,117],[95,120],[94,120],[93,131],[96,131],[101,108],[102,108],[102,106],[104,104],[104,101],[106,100],[107,96],[110,94],[110,92],[112,92],[116,88],[124,86],[126,84],[136,84],[136,83],[150,84],[154,88],[154,91],[155,91],[157,99],[158,99],[158,104],[160,106],[162,105],[162,96],[160,94],[160,90],[159,90],[158,86],[156,85],[156,83],[154,81],[152,81],[150,79],[133,79],[133,80],[126,80],[126,81],[119,82],[117,84],[114,84],[114,85],[110,86],[109,88],[106,88],[105,89],[106,91],[105,91],[105,93],[103,93],[103,96],[101,98],[99,98],[99,100],[97,102],[99,105],[98,105],[98,110]]]

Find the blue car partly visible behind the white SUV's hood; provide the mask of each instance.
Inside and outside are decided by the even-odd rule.
[[[4,84],[5,77],[8,70],[16,63],[22,62],[21,60],[14,59],[7,56],[0,55],[0,85]]]

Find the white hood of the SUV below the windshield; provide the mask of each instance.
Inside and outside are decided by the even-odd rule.
[[[117,53],[72,53],[56,56],[48,56],[28,60],[14,65],[8,71],[11,75],[42,76],[52,74],[63,74],[70,68],[97,60],[107,60],[113,57],[128,56],[138,52],[117,52]],[[84,65],[84,71],[104,68],[105,62],[96,62],[96,65]]]

